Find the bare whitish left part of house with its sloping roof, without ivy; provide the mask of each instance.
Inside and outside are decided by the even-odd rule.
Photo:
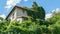
[[[11,12],[8,14],[6,19],[11,19],[11,21],[16,19],[17,21],[22,22],[23,17],[27,17],[27,9],[25,9],[23,7],[15,6],[11,10]]]

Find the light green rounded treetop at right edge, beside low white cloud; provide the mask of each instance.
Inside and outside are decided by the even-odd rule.
[[[52,17],[49,18],[49,19],[47,19],[47,20],[48,20],[50,23],[52,23],[52,24],[56,23],[57,21],[60,20],[60,12],[54,11],[54,12],[52,13]]]

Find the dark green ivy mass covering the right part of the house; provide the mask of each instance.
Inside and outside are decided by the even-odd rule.
[[[38,6],[36,2],[33,3],[32,8],[28,9],[28,15],[36,19],[45,19],[45,10],[43,7]]]

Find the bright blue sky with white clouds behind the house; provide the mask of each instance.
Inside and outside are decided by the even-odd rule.
[[[60,8],[60,0],[0,0],[0,16],[6,18],[14,6],[31,8],[34,1],[45,9],[47,18],[51,16],[52,10]]]

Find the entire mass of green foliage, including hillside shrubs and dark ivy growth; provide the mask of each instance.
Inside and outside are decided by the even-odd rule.
[[[34,2],[28,15],[22,23],[0,17],[0,34],[60,34],[59,13],[53,13],[51,18],[44,20],[45,10]]]

